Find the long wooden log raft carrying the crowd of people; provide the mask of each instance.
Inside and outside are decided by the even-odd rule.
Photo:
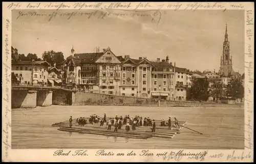
[[[89,120],[88,118],[86,118]],[[108,119],[107,119],[108,120]],[[150,126],[139,126],[136,130],[130,130],[126,132],[125,125],[122,125],[121,129],[114,132],[115,127],[112,126],[111,130],[108,129],[108,125],[104,123],[103,126],[99,126],[100,123],[85,124],[84,126],[78,126],[75,120],[73,120],[73,126],[69,127],[69,121],[54,123],[52,126],[58,127],[60,131],[67,132],[77,132],[82,134],[95,134],[95,135],[105,135],[105,136],[117,136],[120,138],[130,138],[130,139],[148,139],[148,138],[166,138],[172,139],[177,133],[180,133],[182,126],[186,125],[186,122],[179,121],[180,128],[175,127],[174,122],[172,122],[172,129],[168,129],[167,126],[160,126],[160,121],[156,120],[156,132],[152,132],[152,127]],[[87,123],[89,123],[87,121]],[[130,126],[131,129],[132,126]]]

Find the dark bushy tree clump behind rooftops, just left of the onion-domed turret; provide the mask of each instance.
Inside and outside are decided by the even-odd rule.
[[[50,63],[52,66],[54,63],[61,63],[65,60],[62,52],[55,52],[53,50],[44,51],[44,53],[42,53],[42,59]]]

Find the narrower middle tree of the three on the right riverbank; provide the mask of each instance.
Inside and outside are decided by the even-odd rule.
[[[222,98],[224,96],[223,83],[219,81],[212,81],[213,84],[209,89],[209,95],[211,97],[216,97],[216,102],[218,102],[218,98]]]

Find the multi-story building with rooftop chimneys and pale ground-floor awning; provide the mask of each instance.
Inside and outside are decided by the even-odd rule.
[[[155,99],[174,100],[175,98],[175,73],[174,66],[166,60],[157,58],[157,62],[152,62],[151,95]]]

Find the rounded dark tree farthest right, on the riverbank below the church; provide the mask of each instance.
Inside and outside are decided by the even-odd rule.
[[[227,97],[232,98],[243,98],[244,97],[244,86],[239,78],[231,79],[227,85],[226,91]]]

